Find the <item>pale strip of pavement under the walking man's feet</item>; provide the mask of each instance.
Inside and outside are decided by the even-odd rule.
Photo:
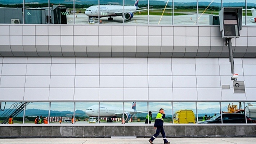
[[[27,138],[1,139],[0,144],[149,144],[149,138]],[[256,138],[167,138],[171,144],[255,144]],[[156,138],[154,144],[163,144]]]

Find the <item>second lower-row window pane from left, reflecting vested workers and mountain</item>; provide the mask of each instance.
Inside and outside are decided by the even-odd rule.
[[[24,123],[48,124],[49,107],[49,103],[28,103],[26,106]]]

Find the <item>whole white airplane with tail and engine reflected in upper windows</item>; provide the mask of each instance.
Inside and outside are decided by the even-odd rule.
[[[122,16],[123,14],[125,15],[124,18],[125,20],[130,20],[131,18],[133,18],[133,13],[134,12],[140,12],[143,10],[147,10],[147,9],[143,9],[143,10],[138,10],[138,9],[142,9],[138,7],[138,3],[139,0],[135,1],[134,6],[131,5],[93,5],[90,6],[89,8],[87,8],[85,10],[85,14],[89,17],[89,18],[102,18],[102,17],[109,17],[108,21],[112,21],[113,18],[112,17],[116,17],[116,16]],[[99,10],[100,8],[100,10]],[[124,12],[123,12],[124,9]],[[98,14],[99,12],[99,14]]]

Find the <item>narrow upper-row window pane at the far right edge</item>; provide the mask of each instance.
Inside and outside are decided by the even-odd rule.
[[[247,0],[246,25],[256,25],[256,5],[254,0]]]

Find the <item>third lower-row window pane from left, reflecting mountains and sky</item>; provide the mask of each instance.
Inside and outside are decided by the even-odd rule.
[[[49,123],[76,122],[73,102],[52,102],[50,107]]]

